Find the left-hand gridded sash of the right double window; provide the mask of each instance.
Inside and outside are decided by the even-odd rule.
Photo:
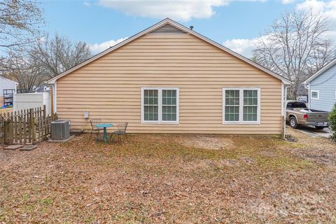
[[[225,90],[225,121],[239,121],[239,90]]]

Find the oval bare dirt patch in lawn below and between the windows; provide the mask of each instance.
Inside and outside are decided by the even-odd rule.
[[[176,138],[176,141],[183,146],[211,150],[221,150],[235,146],[234,141],[229,137],[216,135],[187,135]]]

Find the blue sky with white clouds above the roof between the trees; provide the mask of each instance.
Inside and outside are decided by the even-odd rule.
[[[307,8],[330,16],[330,36],[336,38],[336,0],[43,1],[41,6],[45,31],[85,41],[94,53],[171,18],[251,57],[255,40],[281,13]]]

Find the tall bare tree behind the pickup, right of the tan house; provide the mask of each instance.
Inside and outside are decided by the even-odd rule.
[[[328,18],[320,13],[286,13],[256,43],[253,59],[291,80],[288,97],[293,99],[300,83],[335,57],[327,31]]]

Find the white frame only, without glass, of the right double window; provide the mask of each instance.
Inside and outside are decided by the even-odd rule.
[[[225,120],[225,90],[239,90],[239,121],[226,121]],[[258,91],[258,106],[257,106],[257,120],[256,121],[244,121],[244,90],[257,90]],[[223,124],[260,124],[260,87],[223,87],[222,92],[222,104],[223,104]]]

